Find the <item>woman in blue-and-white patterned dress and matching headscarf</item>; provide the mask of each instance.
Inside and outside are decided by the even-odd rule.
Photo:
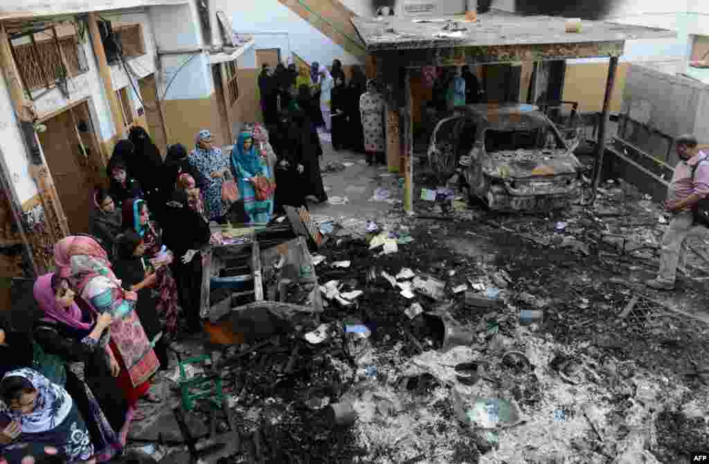
[[[208,179],[202,191],[207,219],[223,223],[229,205],[222,200],[222,185],[229,175],[229,161],[219,148],[214,147],[210,131],[199,131],[196,142],[189,162],[204,179]]]

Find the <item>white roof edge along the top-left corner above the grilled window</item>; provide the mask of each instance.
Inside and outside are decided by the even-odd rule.
[[[91,11],[111,11],[147,6],[174,6],[189,4],[189,0],[74,0],[74,1],[17,1],[11,6],[0,6],[0,21],[28,20],[50,16],[68,16]]]

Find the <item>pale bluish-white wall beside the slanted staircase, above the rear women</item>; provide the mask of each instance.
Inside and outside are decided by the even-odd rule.
[[[340,45],[333,43],[278,0],[254,1],[249,8],[230,2],[226,8],[225,12],[238,33],[259,33],[254,35],[256,49],[280,48],[283,60],[293,51],[308,62],[329,65],[338,58],[343,65],[360,64],[356,57],[345,52]]]

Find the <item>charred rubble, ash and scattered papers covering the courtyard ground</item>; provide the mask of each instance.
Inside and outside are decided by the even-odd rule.
[[[709,449],[701,280],[682,307],[642,287],[657,205],[620,182],[546,217],[430,192],[419,217],[313,215],[324,312],[220,361],[247,437],[221,464],[683,464]]]

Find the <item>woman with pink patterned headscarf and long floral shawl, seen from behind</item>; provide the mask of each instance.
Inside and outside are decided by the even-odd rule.
[[[93,238],[64,238],[55,245],[54,254],[58,274],[69,281],[77,297],[97,313],[108,312],[113,316],[109,346],[120,368],[118,385],[130,407],[130,422],[138,399],[150,390],[150,377],[160,368],[160,361],[133,311],[138,296],[121,287],[106,251]]]

